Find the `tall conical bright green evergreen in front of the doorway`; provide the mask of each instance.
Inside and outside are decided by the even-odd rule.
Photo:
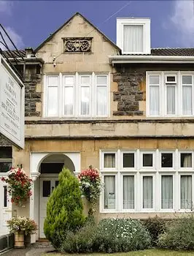
[[[44,234],[58,249],[66,233],[77,230],[85,221],[82,214],[82,198],[78,179],[63,167],[59,173],[59,184],[47,202],[47,217],[44,220]]]

